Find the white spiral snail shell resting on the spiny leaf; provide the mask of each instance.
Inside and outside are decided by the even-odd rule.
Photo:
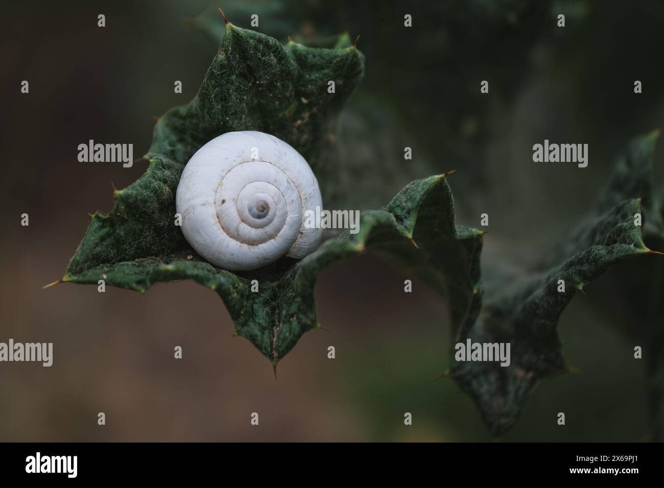
[[[228,132],[189,159],[175,197],[187,242],[226,270],[255,270],[286,255],[303,258],[321,242],[306,210],[321,206],[307,161],[274,135]]]

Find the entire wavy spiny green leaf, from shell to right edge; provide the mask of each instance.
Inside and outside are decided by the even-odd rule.
[[[344,37],[334,42],[347,45]],[[282,258],[260,270],[232,273],[198,256],[173,222],[179,178],[195,151],[228,131],[271,133],[307,159],[323,201],[336,196],[339,189],[331,182],[338,181],[339,168],[330,164],[328,144],[363,66],[354,46],[328,49],[293,41],[283,46],[227,24],[196,98],[157,122],[147,171],[114,192],[110,214],[94,214],[62,281],[103,279],[145,291],[157,282],[193,280],[220,295],[236,334],[276,365],[303,333],[319,327],[313,289],[320,272],[371,248],[448,298],[454,342],[511,344],[507,368],[457,362],[451,368],[491,431],[500,434],[516,422],[539,380],[567,370],[556,326],[575,291],[612,264],[649,252],[633,225],[640,198],[646,225],[661,232],[661,200],[641,179],[654,137],[631,145],[598,213],[486,305],[479,262],[483,232],[456,226],[446,175],[410,183],[384,208],[363,213],[358,234],[329,239],[303,260]],[[328,80],[335,80],[335,94],[327,92]],[[252,280],[259,282],[256,293]],[[558,293],[558,280],[564,280],[565,293]]]

